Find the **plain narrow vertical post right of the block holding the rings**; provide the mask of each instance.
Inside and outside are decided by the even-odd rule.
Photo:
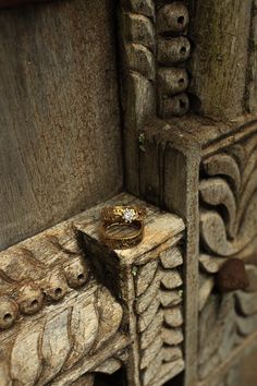
[[[164,154],[164,206],[186,221],[185,245],[185,386],[197,383],[198,359],[198,170],[199,148],[194,141],[181,141]],[[184,145],[181,146],[181,144]]]

